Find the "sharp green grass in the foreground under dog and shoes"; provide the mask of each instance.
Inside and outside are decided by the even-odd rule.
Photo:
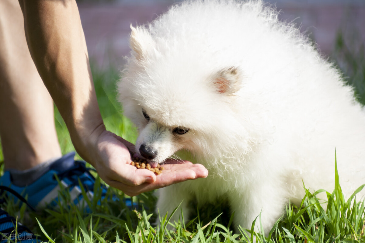
[[[335,160],[336,162],[336,160]],[[253,229],[239,228],[236,234],[231,227],[233,215],[225,210],[225,205],[201,207],[196,217],[188,223],[183,220],[170,221],[171,215],[154,214],[155,197],[152,193],[143,193],[134,198],[140,203],[140,209],[129,210],[122,203],[110,200],[116,195],[123,200],[123,193],[110,188],[107,197],[100,205],[100,179],[95,184],[95,197],[87,201],[92,213],[73,205],[67,191],[59,196],[65,203],[57,208],[32,212],[26,205],[5,204],[5,210],[18,215],[21,222],[26,223],[33,232],[41,235],[45,242],[365,242],[364,200],[353,200],[356,192],[347,201],[344,200],[338,173],[335,173],[335,190],[327,192],[327,209],[323,208],[316,194],[310,193],[301,201],[299,208],[288,205],[286,217],[276,222],[268,237],[264,233],[255,233]],[[68,206],[66,206],[66,204]],[[146,209],[145,209],[146,208]],[[176,211],[180,208],[176,208]],[[222,213],[223,212],[223,213]],[[172,212],[174,213],[174,212]],[[224,215],[226,214],[226,215]],[[204,218],[202,218],[204,215]],[[260,222],[258,216],[257,222]],[[176,231],[166,229],[173,225]]]

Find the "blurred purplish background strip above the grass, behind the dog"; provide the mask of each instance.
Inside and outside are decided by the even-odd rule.
[[[346,40],[350,49],[365,41],[365,0],[264,0],[280,10],[279,18],[300,30],[332,56]],[[130,24],[145,24],[178,0],[79,0],[91,61],[101,69],[120,68],[128,55]],[[358,50],[354,50],[358,52]]]

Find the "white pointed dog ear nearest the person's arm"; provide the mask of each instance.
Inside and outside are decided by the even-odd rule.
[[[154,41],[150,33],[145,28],[131,27],[131,37],[129,39],[133,55],[137,60],[142,61],[147,58],[150,51],[154,49]]]

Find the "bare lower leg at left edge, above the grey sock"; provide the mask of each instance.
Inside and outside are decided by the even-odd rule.
[[[53,102],[30,56],[17,1],[0,1],[0,138],[5,169],[61,157]]]

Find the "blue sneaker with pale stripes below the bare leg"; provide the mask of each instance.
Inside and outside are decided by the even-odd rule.
[[[95,177],[90,173],[91,169],[86,167],[86,163],[84,161],[75,161],[74,156],[75,153],[69,153],[59,158],[37,181],[24,187],[12,185],[10,173],[5,171],[0,177],[0,185],[11,188],[21,196],[26,197],[28,204],[36,209],[57,206],[59,192],[61,191],[60,184],[69,191],[70,199],[75,205],[86,205],[84,204],[85,198],[79,181],[88,200],[91,201],[94,196]],[[98,195],[98,198],[103,199],[106,196],[107,187],[103,184],[100,184],[100,186],[101,195]],[[14,198],[14,200],[17,201],[17,198]],[[116,200],[116,198],[112,198],[112,200]],[[126,198],[124,203],[128,208],[132,207],[129,198]]]

